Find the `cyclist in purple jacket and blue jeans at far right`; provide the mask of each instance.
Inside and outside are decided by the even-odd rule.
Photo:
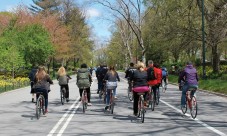
[[[196,69],[193,67],[192,62],[187,62],[186,67],[182,71],[180,75],[180,80],[183,80],[185,83],[182,88],[182,95],[181,95],[181,106],[185,107],[186,106],[186,92],[188,91],[189,88],[198,88],[198,74]],[[180,85],[180,83],[179,83]],[[195,92],[192,92],[192,96],[194,95]]]

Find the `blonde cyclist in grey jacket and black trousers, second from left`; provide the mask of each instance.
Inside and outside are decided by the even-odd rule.
[[[68,85],[69,79],[72,79],[72,78],[69,75],[67,75],[65,68],[63,66],[61,66],[58,69],[57,80],[61,87],[61,90],[62,90],[62,88],[65,88],[65,90],[66,90],[65,98],[66,98],[67,102],[69,101],[69,85]]]

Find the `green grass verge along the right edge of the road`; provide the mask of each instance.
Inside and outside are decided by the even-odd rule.
[[[169,75],[170,83],[178,83],[178,76]],[[227,81],[220,79],[199,80],[199,88],[211,92],[227,94]]]

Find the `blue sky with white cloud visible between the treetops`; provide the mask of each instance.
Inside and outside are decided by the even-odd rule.
[[[101,6],[89,5],[85,6],[83,2],[85,0],[75,0],[77,4],[84,8],[87,16],[87,24],[92,28],[92,39],[96,42],[104,43],[110,39],[110,22],[102,19],[105,11]],[[0,11],[12,11],[18,5],[30,6],[33,4],[32,0],[0,0]]]

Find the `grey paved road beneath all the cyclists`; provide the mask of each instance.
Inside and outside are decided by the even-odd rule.
[[[121,75],[122,77],[124,75]],[[80,135],[152,135],[152,136],[226,136],[227,98],[197,92],[199,104],[195,120],[180,111],[180,91],[168,85],[161,93],[155,111],[148,110],[145,122],[132,115],[132,102],[127,98],[127,82],[118,83],[114,114],[104,113],[104,104],[96,94],[97,80],[91,86],[92,106],[82,113],[75,77],[70,81],[70,102],[61,105],[59,85],[55,81],[49,93],[49,113],[35,118],[30,88],[0,94],[0,136],[80,136]]]

